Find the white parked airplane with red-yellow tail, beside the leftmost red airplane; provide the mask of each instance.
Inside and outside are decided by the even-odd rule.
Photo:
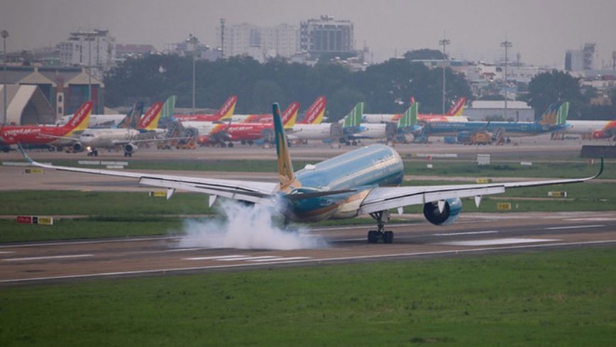
[[[125,157],[132,157],[139,147],[137,143],[164,141],[156,138],[165,133],[158,128],[158,121],[163,109],[162,102],[156,102],[139,121],[137,128],[96,128],[86,129],[78,141],[72,145],[75,152],[87,150],[88,156],[98,156],[98,148],[122,148]]]

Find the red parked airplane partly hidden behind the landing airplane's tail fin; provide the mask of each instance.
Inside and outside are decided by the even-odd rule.
[[[282,125],[285,129],[295,125],[297,111],[299,111],[299,104],[293,102],[287,107],[285,113],[282,114]],[[273,123],[211,123],[211,130],[209,132],[207,132],[207,128],[200,128],[199,131],[204,131],[205,134],[199,135],[197,138],[197,143],[200,145],[219,143],[221,147],[233,147],[233,142],[238,141],[242,144],[248,143],[249,145],[257,141],[263,141],[264,143],[274,142]],[[228,144],[225,145],[225,141]]]

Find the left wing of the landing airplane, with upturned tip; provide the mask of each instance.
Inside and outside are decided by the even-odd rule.
[[[217,180],[189,176],[155,175],[140,172],[98,170],[82,167],[49,165],[32,160],[28,157],[21,145],[18,145],[18,148],[23,157],[26,158],[26,160],[28,160],[28,162],[32,165],[58,171],[82,172],[92,175],[134,178],[138,180],[139,184],[168,189],[167,199],[171,197],[172,193],[175,192],[175,189],[181,189],[189,192],[211,194],[236,200],[244,200],[256,204],[273,206],[273,196],[278,188],[278,184],[274,182]],[[213,200],[210,200],[210,202],[213,202]]]

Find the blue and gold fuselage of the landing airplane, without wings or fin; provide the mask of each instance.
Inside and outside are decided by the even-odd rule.
[[[295,173],[295,182],[281,192],[280,212],[295,221],[351,218],[374,187],[402,184],[404,165],[400,155],[386,145],[370,145],[307,165]],[[293,194],[344,191],[304,199]]]

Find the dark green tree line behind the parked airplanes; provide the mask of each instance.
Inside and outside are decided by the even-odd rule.
[[[417,50],[404,59],[391,59],[353,72],[336,61],[314,66],[277,58],[261,64],[252,57],[230,57],[195,65],[195,104],[197,108],[217,109],[231,95],[238,95],[237,114],[268,113],[272,102],[284,108],[298,101],[301,110],[319,95],[327,97],[327,116],[341,119],[359,101],[365,113],[402,113],[409,98],[421,102],[422,113],[442,111],[443,70],[429,69],[422,59],[441,59],[438,50]],[[458,97],[473,99],[471,87],[461,73],[446,69],[446,108]],[[192,106],[192,57],[149,55],[131,58],[104,77],[106,105],[126,106],[134,101],[164,101],[177,95],[176,106]],[[541,111],[554,101],[571,101],[570,119],[610,119],[614,105],[599,109],[590,106],[592,93],[583,91],[580,80],[556,70],[537,75],[522,99]],[[612,93],[616,101],[616,93]],[[598,112],[598,110],[600,112]],[[604,118],[606,117],[606,118]]]

